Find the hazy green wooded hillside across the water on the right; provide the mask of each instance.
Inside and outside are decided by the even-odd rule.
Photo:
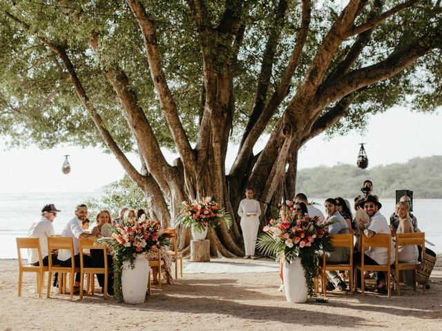
[[[361,170],[356,165],[340,164],[298,170],[297,192],[308,197],[356,197],[366,179],[374,183],[373,193],[394,198],[396,190],[412,190],[414,198],[442,198],[442,156],[410,159],[407,163],[378,165]],[[431,180],[429,180],[431,179]]]

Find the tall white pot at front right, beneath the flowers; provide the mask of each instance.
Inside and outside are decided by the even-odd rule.
[[[284,261],[282,274],[287,301],[291,303],[306,302],[309,297],[309,289],[307,288],[304,267],[302,267],[300,258],[290,264]]]

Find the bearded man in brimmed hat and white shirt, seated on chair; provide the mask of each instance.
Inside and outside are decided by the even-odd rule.
[[[390,234],[390,227],[387,219],[379,212],[382,208],[382,204],[372,195],[368,195],[360,204],[361,208],[364,208],[370,217],[369,223],[364,223],[362,220],[358,220],[358,227],[361,231],[364,231],[365,235],[369,238],[374,237],[376,234]],[[390,264],[394,263],[394,244],[391,243],[392,249],[390,254]],[[362,252],[353,253],[353,263],[358,265],[361,263]],[[364,260],[366,264],[385,265],[388,263],[387,248],[370,247],[365,251]],[[358,282],[361,277],[358,275]],[[386,293],[385,288],[385,275],[383,272],[376,273],[376,283],[378,285],[378,292]],[[360,284],[358,284],[359,287]]]

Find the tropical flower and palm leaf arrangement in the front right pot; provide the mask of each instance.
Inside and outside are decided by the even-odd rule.
[[[278,204],[278,215],[270,219],[258,237],[257,247],[265,255],[273,255],[279,261],[291,263],[297,258],[305,269],[309,297],[314,297],[314,278],[318,274],[318,250],[327,248],[329,239],[327,221],[310,218],[294,209],[293,201]]]

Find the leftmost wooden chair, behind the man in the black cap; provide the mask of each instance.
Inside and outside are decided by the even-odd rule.
[[[23,272],[35,272],[37,276],[37,291],[39,292],[39,298],[42,297],[44,287],[44,273],[49,270],[48,266],[43,265],[43,259],[41,257],[40,241],[38,238],[16,238],[17,241],[17,253],[19,256],[19,297],[21,297],[21,286],[23,282]],[[39,266],[35,265],[23,265],[21,261],[22,249],[35,249],[39,254]],[[50,283],[49,283],[50,288]]]

